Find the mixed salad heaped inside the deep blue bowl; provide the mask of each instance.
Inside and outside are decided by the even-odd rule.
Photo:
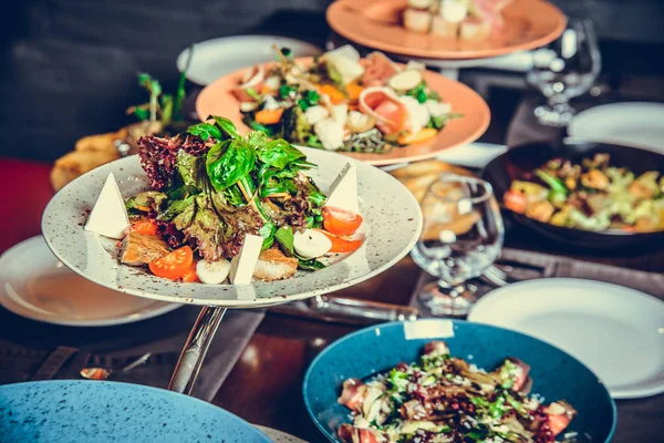
[[[554,442],[575,411],[530,395],[529,370],[508,358],[486,372],[450,356],[445,342],[429,342],[416,362],[343,383],[339,402],[352,423],[342,424],[339,436],[345,443]]]

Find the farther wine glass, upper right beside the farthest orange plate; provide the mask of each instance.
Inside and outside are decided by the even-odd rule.
[[[543,125],[567,126],[575,113],[570,99],[588,92],[602,69],[592,22],[569,19],[560,39],[535,51],[532,64],[526,80],[547,97],[535,115]]]

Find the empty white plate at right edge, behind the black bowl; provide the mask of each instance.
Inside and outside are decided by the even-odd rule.
[[[603,104],[577,114],[568,126],[572,137],[664,153],[664,104]]]

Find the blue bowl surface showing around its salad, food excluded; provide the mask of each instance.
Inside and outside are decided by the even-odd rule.
[[[393,322],[362,329],[330,344],[304,377],[304,404],[330,441],[350,422],[349,410],[336,402],[349,378],[366,379],[400,361],[417,360],[424,344],[445,340],[452,353],[492,370],[507,357],[530,364],[532,392],[546,402],[567,400],[578,415],[569,431],[588,434],[593,443],[609,442],[615,430],[615,403],[609,391],[581,362],[558,348],[519,332],[457,320]]]

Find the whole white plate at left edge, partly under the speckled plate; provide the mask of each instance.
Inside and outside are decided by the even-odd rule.
[[[112,326],[156,317],[180,305],[117,292],[62,265],[42,236],[0,256],[0,305],[32,320],[66,326]]]

